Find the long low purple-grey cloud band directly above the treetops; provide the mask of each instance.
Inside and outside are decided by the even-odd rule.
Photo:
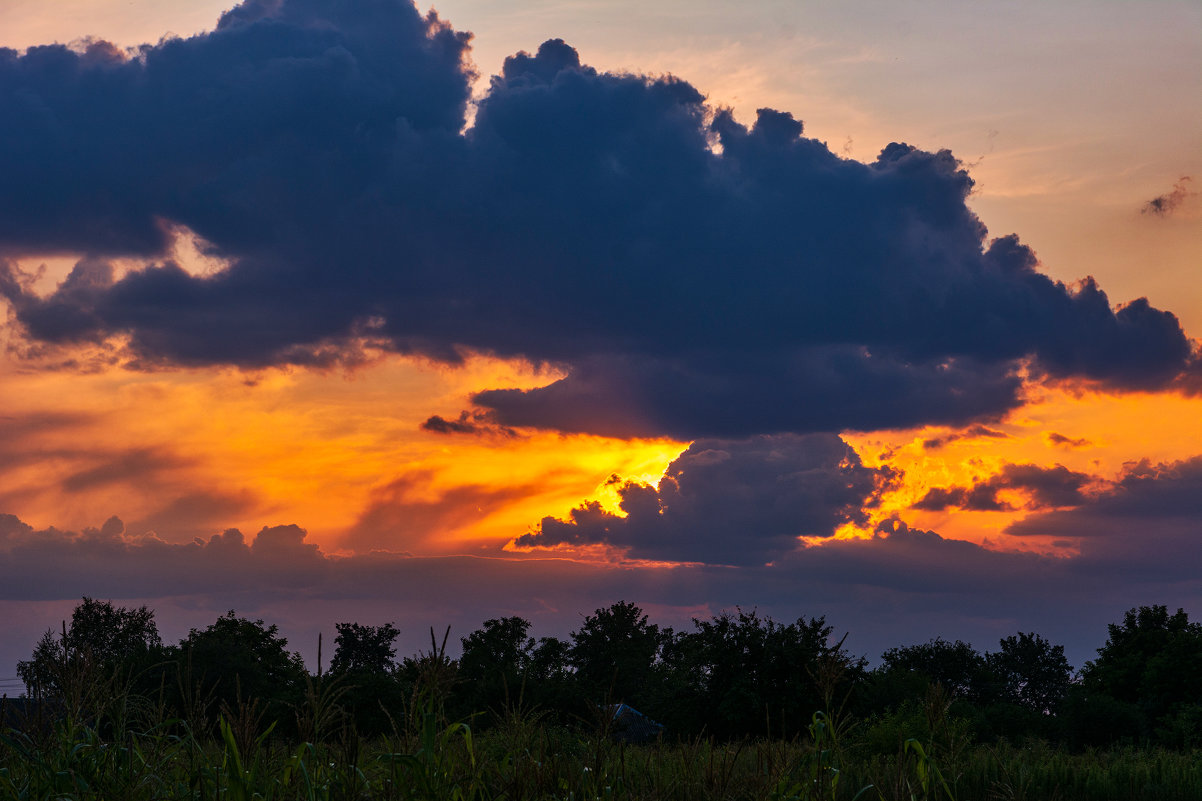
[[[209,619],[191,623],[204,625],[233,606],[269,622],[292,615],[327,635],[334,621],[374,615],[397,621],[417,647],[428,625],[453,623],[459,636],[495,617],[499,603],[506,613],[535,621],[540,634],[563,636],[579,625],[581,613],[626,599],[678,610],[684,625],[706,610],[736,605],[778,619],[826,615],[851,633],[850,647],[874,658],[935,635],[984,647],[1035,630],[1069,645],[1076,664],[1093,655],[1106,623],[1125,609],[1167,603],[1202,612],[1202,550],[1196,524],[1184,518],[1165,518],[1139,538],[1087,538],[1082,556],[1072,558],[990,551],[894,520],[871,539],[799,548],[772,566],[672,569],[535,558],[339,558],[321,553],[292,526],[267,527],[252,542],[226,530],[178,545],[121,529],[109,520],[78,533],[35,530],[0,515],[0,611],[87,594],[149,604],[163,627],[172,607],[209,610]],[[47,627],[64,617],[59,606],[53,615]],[[664,619],[660,612],[653,617]],[[321,619],[323,625],[311,623]],[[0,637],[11,663],[28,658],[35,642],[36,634],[18,643]],[[307,642],[316,642],[316,630]]]

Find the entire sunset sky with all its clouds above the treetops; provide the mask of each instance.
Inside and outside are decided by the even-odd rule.
[[[83,595],[310,660],[630,600],[1081,666],[1202,615],[1197,4],[0,31],[0,687]]]

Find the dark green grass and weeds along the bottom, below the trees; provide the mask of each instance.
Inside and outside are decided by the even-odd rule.
[[[793,741],[695,738],[631,746],[599,723],[564,726],[531,710],[448,722],[426,689],[393,732],[361,741],[337,686],[310,688],[285,737],[254,702],[215,731],[130,695],[103,712],[31,719],[0,734],[0,797],[14,801],[993,801],[1202,797],[1202,753],[1042,743],[975,746],[954,722],[869,747],[865,725],[814,716]],[[305,725],[308,722],[308,725]],[[470,723],[488,723],[476,730]]]

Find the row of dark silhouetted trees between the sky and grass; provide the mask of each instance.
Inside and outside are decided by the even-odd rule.
[[[447,636],[440,642],[433,630],[428,651],[399,658],[394,624],[338,623],[328,669],[310,674],[261,619],[231,611],[168,645],[150,609],[84,598],[17,671],[32,701],[78,708],[88,693],[131,693],[198,730],[252,714],[297,732],[307,725],[297,710],[325,683],[337,688],[331,714],[367,736],[395,728],[426,693],[448,718],[478,726],[514,710],[571,724],[625,702],[671,738],[792,738],[819,710],[903,737],[935,725],[938,707],[982,742],[1202,744],[1202,624],[1165,606],[1127,611],[1076,671],[1063,646],[1033,633],[983,653],[936,637],[889,648],[869,669],[825,618],[780,623],[754,610],[676,631],[619,601],[567,639],[534,637],[530,627],[520,617],[486,621],[452,659]]]

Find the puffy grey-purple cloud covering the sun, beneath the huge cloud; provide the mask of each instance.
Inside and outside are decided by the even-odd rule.
[[[596,502],[569,520],[545,517],[518,546],[603,544],[645,559],[754,565],[864,523],[865,508],[894,480],[867,468],[833,434],[698,440],[667,468],[659,487],[618,487],[625,517]]]

